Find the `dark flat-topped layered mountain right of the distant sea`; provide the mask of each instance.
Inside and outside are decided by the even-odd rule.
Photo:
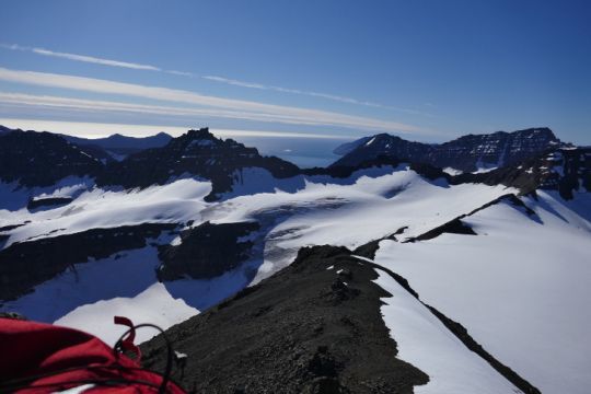
[[[468,135],[441,144],[410,142],[382,134],[359,144],[332,166],[355,166],[363,161],[385,155],[442,169],[449,166],[473,172],[514,164],[558,146],[561,146],[561,142],[548,128]]]

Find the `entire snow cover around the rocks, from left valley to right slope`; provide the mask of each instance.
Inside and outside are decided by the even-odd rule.
[[[240,176],[239,176],[240,175]],[[403,243],[500,196],[518,190],[482,184],[428,181],[406,165],[362,170],[347,178],[296,176],[276,179],[267,171],[244,169],[232,192],[206,202],[209,182],[172,179],[146,189],[103,189],[90,179],[65,179],[55,187],[13,190],[0,184],[0,248],[95,228],[205,221],[256,220],[260,229],[245,240],[256,253],[239,268],[210,280],[159,282],[157,247],[80,262],[3,309],[37,321],[88,331],[113,344],[125,327],[162,328],[187,320],[227,297],[289,265],[299,248],[349,248],[382,241],[374,262],[408,279],[421,301],[464,325],[499,361],[544,393],[586,393],[591,386],[591,197],[557,194],[521,197],[535,215],[499,202],[462,219],[477,235],[444,233]],[[30,211],[35,197],[70,197],[72,202]],[[178,244],[161,236],[157,243]],[[244,241],[244,240],[243,240]],[[253,274],[254,273],[254,274]],[[467,350],[420,302],[390,277],[376,283],[384,299],[384,322],[398,343],[399,358],[429,374],[417,393],[518,393],[488,363]],[[140,332],[139,340],[155,333]]]

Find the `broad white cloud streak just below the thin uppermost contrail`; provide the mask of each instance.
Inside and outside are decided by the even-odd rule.
[[[346,127],[356,130],[432,134],[430,130],[393,120],[345,115],[318,109],[273,105],[253,101],[217,97],[185,90],[124,83],[95,78],[0,68],[0,80],[109,95],[151,99],[160,102],[190,104],[194,106],[216,109],[218,114],[216,116],[229,118],[243,118],[291,125]],[[186,108],[179,108],[178,111],[184,109]],[[190,111],[197,109],[202,108],[190,108]]]

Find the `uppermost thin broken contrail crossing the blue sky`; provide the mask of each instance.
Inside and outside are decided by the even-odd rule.
[[[370,101],[362,101],[362,100],[357,100],[354,97],[328,94],[328,93],[303,91],[299,89],[268,85],[268,84],[263,84],[263,83],[257,83],[257,82],[246,82],[246,81],[240,81],[240,80],[219,77],[219,76],[196,76],[193,72],[179,71],[179,70],[165,70],[160,67],[152,66],[152,65],[141,65],[141,63],[136,63],[136,62],[97,58],[94,56],[60,53],[60,51],[55,51],[55,50],[49,50],[49,49],[44,49],[44,48],[21,46],[18,44],[0,44],[0,47],[4,49],[28,51],[28,53],[33,53],[37,55],[57,57],[57,58],[62,58],[62,59],[68,59],[68,60],[73,60],[73,61],[82,61],[82,62],[109,66],[109,67],[128,68],[128,69],[135,69],[135,70],[158,71],[158,72],[165,72],[173,76],[182,76],[182,77],[188,77],[188,78],[201,78],[208,81],[225,83],[233,86],[258,89],[258,90],[265,90],[265,91],[287,93],[287,94],[306,95],[310,97],[331,100],[331,101],[335,101],[339,103],[362,105],[362,106],[374,107],[374,108],[396,111],[396,112],[412,114],[412,115],[421,115],[421,116],[432,117],[431,114],[427,114],[427,113],[416,111],[416,109],[403,108],[403,107],[397,107],[397,106],[392,106],[392,105],[384,105],[380,103],[373,103]]]

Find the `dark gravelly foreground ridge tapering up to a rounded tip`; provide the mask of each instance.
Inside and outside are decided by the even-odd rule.
[[[170,328],[188,355],[173,376],[198,393],[413,393],[428,378],[396,358],[375,278],[344,247],[302,248],[291,266]],[[141,348],[146,367],[164,367],[160,336]]]

